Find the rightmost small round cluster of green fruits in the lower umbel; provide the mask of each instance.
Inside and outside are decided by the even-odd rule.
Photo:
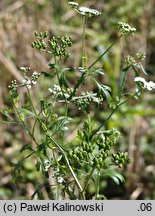
[[[118,167],[123,167],[124,165],[129,164],[130,159],[128,158],[128,153],[118,152],[116,154],[112,154],[112,162]]]

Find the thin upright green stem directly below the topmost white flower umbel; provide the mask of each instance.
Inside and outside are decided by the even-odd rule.
[[[86,68],[86,53],[85,53],[85,32],[86,32],[86,16],[83,16],[83,33],[82,33],[82,67]]]

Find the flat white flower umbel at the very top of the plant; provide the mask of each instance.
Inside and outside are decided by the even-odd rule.
[[[87,17],[93,17],[93,16],[99,16],[101,15],[101,12],[95,9],[91,9],[88,7],[78,7],[77,2],[68,2],[70,6],[72,6],[73,9],[75,9],[79,14]]]

